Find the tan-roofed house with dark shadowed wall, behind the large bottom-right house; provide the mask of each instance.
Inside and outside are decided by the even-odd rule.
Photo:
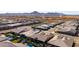
[[[64,24],[58,25],[56,26],[56,28],[58,29],[56,32],[58,33],[62,33],[62,34],[67,34],[67,35],[72,35],[75,36],[76,35],[76,22],[66,22]]]

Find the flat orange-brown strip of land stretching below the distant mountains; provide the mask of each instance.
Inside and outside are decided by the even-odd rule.
[[[79,19],[79,16],[0,16],[0,21],[3,19],[15,21],[15,22],[24,22],[27,20],[40,20],[42,22],[54,22],[57,20],[67,21],[67,20],[75,20]]]

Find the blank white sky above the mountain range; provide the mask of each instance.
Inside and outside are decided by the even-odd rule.
[[[0,0],[0,13],[32,11],[79,14],[79,0]]]

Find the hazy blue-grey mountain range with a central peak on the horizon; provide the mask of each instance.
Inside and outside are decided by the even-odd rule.
[[[56,13],[56,12],[39,13],[37,11],[33,11],[31,13],[4,13],[4,14],[0,14],[0,16],[63,16],[63,15],[65,15],[65,14]]]

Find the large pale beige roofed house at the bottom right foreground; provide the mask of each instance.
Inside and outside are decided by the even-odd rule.
[[[73,42],[74,42],[73,37],[63,34],[55,35],[51,40],[48,41],[49,44],[60,47],[72,47]]]

